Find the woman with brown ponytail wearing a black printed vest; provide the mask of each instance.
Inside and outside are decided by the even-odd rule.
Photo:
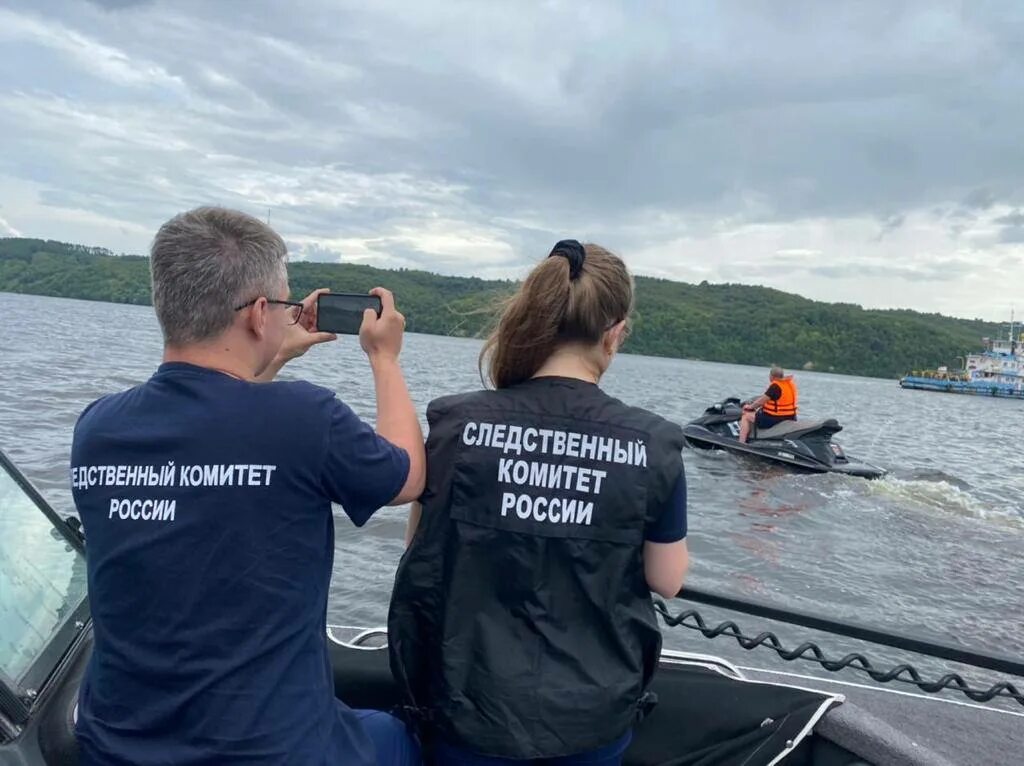
[[[440,763],[618,763],[651,695],[650,591],[683,584],[680,428],[598,381],[633,280],[558,243],[480,356],[495,390],[427,410],[427,485],[389,615],[391,667]]]

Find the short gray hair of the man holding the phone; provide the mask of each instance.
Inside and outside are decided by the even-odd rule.
[[[196,208],[171,218],[150,251],[164,342],[210,340],[230,327],[237,306],[280,297],[288,285],[287,257],[272,228],[237,210]]]

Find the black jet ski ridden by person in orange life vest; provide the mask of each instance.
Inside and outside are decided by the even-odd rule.
[[[786,420],[771,428],[756,428],[744,444],[739,441],[742,414],[739,399],[723,399],[687,423],[683,436],[690,446],[698,450],[729,450],[805,471],[846,473],[864,478],[880,478],[886,474],[885,469],[850,458],[831,440],[833,434],[843,430],[835,418]]]

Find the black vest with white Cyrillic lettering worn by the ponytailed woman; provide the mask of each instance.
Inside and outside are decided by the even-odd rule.
[[[622,736],[652,701],[642,548],[682,470],[679,426],[565,378],[436,399],[427,420],[388,615],[407,710],[428,739],[505,758]]]

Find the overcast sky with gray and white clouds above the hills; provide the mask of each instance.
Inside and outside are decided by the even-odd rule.
[[[0,236],[145,252],[199,204],[293,258],[638,273],[1005,320],[1024,3],[0,0]]]

